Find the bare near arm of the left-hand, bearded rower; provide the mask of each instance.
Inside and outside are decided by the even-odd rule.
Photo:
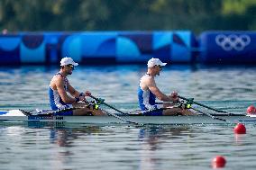
[[[58,93],[59,93],[59,95],[60,95],[60,97],[61,97],[61,99],[64,103],[75,103],[76,102],[76,99],[72,98],[72,97],[69,97],[69,95],[65,91],[64,81],[63,81],[62,77],[60,77],[60,76],[57,77],[55,85],[56,85]]]

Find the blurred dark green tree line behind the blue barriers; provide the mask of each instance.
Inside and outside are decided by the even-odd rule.
[[[255,0],[1,0],[13,31],[256,30]]]

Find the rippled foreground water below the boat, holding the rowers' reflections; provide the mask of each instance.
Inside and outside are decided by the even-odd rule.
[[[148,126],[33,122],[0,125],[4,169],[206,169],[212,157],[255,157],[255,127],[237,141],[233,126]],[[5,153],[5,154],[4,154]],[[33,165],[29,160],[33,158]],[[238,161],[239,162],[239,161]],[[238,163],[237,162],[237,163]],[[234,161],[233,164],[236,162]],[[25,166],[24,166],[25,165]],[[255,164],[253,164],[256,166]],[[235,167],[231,163],[228,166]]]

